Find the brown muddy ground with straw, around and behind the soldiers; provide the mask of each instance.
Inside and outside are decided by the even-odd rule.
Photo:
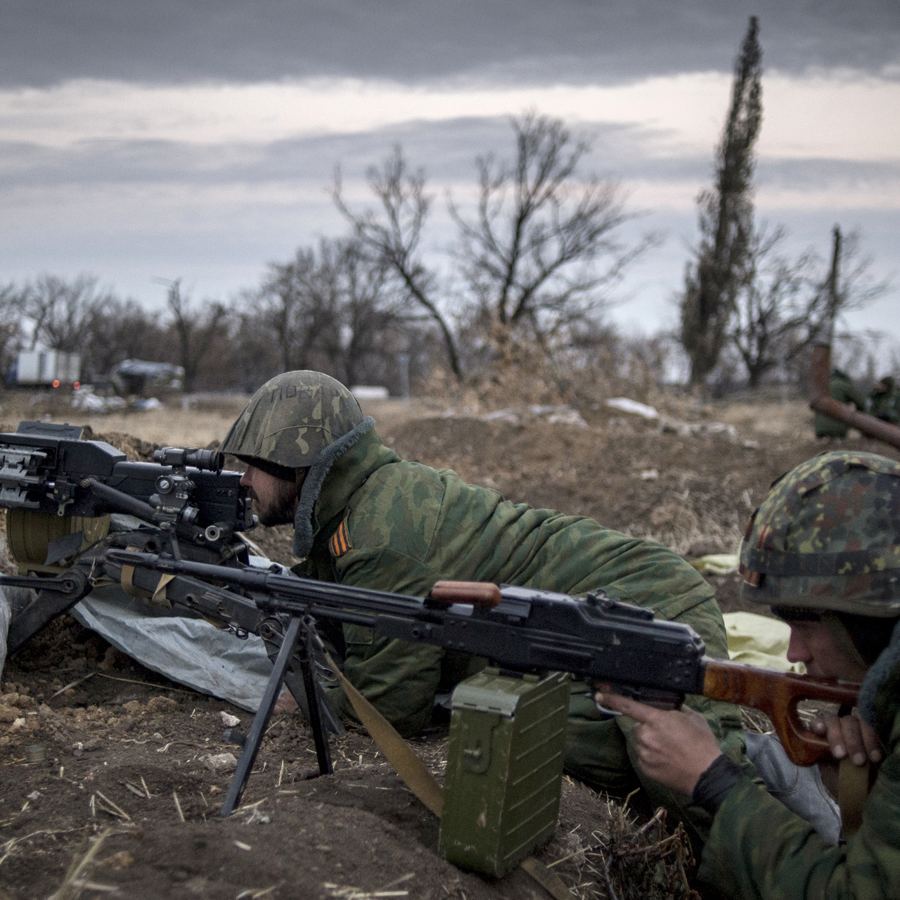
[[[769,483],[826,446],[898,457],[861,439],[815,442],[806,437],[806,419],[797,428],[788,416],[788,427],[773,428],[785,419],[783,408],[695,417],[732,422],[734,434],[680,434],[605,409],[580,412],[585,426],[527,412],[485,421],[417,408],[411,417],[383,417],[380,430],[407,458],[453,468],[509,500],[653,537],[689,558],[734,552]],[[221,437],[229,415],[221,427],[204,424],[203,437]],[[139,434],[140,421],[122,430]],[[132,456],[151,449],[113,440]],[[250,537],[273,558],[292,562],[289,528],[260,528]],[[725,610],[742,608],[734,576],[713,583]],[[315,756],[298,716],[275,717],[243,808],[222,820],[229,774],[206,758],[237,755],[238,748],[221,743],[223,712],[238,716],[245,730],[250,716],[143,669],[69,617],[7,662],[3,692],[0,900],[54,892],[236,900],[549,896],[522,871],[491,881],[440,860],[437,819],[361,732],[333,743],[334,775],[306,779]],[[437,723],[414,742],[438,779],[446,738],[446,724]],[[35,744],[46,760],[29,761],[27,748]],[[604,863],[622,816],[621,806],[567,780],[559,827],[539,859],[558,862],[553,870],[574,896],[608,896]],[[611,869],[632,887],[647,870]],[[674,889],[671,879],[662,888],[657,882],[653,889],[663,893],[655,896],[666,896],[666,884]]]

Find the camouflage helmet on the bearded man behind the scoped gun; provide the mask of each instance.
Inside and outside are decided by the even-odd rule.
[[[219,449],[250,464],[261,462],[257,468],[285,477],[278,470],[311,466],[327,446],[362,421],[356,397],[334,378],[285,372],[253,395]]]

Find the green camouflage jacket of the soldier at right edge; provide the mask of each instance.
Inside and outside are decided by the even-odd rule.
[[[746,900],[900,897],[900,665],[874,704],[885,761],[843,847],[824,842],[764,788],[744,778],[713,822],[698,878]]]

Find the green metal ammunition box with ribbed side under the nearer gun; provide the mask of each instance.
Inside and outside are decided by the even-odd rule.
[[[456,687],[452,704],[438,852],[500,877],[556,828],[569,676],[485,669]]]

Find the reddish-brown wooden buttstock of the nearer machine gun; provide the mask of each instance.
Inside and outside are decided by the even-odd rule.
[[[800,700],[825,700],[855,706],[860,685],[815,679],[707,657],[703,696],[740,703],[765,713],[775,725],[788,756],[798,766],[811,766],[828,754],[824,737],[811,732],[797,715]]]

